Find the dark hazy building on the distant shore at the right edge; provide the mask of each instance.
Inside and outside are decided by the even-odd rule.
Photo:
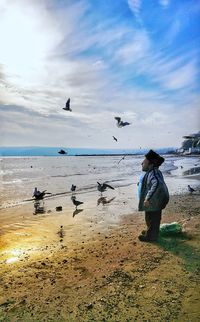
[[[185,139],[180,149],[177,152],[183,154],[200,154],[200,131],[190,135],[183,136]]]

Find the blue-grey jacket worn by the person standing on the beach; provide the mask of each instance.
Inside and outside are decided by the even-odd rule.
[[[144,207],[144,200],[150,202],[149,207]],[[169,192],[162,172],[158,168],[147,171],[142,180],[139,211],[158,211],[164,209],[169,202]]]

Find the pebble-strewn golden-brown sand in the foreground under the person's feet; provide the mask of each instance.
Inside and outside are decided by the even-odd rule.
[[[200,194],[173,196],[162,222],[181,222],[185,234],[157,244],[138,241],[135,213],[105,233],[2,259],[0,321],[199,321],[199,209]]]

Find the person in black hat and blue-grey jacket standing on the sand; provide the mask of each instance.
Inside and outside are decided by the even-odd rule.
[[[145,211],[147,230],[138,236],[140,241],[154,242],[159,237],[159,228],[164,209],[169,202],[169,192],[159,166],[165,161],[155,151],[150,150],[142,162],[142,178],[139,193],[139,211]]]

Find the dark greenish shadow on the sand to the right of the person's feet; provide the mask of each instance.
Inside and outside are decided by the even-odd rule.
[[[189,241],[193,237],[185,232],[178,234],[160,235],[158,240],[159,247],[179,256],[184,261],[185,268],[190,272],[200,272],[200,252]]]

